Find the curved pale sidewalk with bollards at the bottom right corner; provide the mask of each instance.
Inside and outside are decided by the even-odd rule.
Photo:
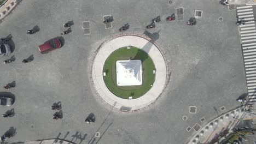
[[[225,136],[232,133],[232,129],[241,120],[256,119],[256,115],[251,114],[256,113],[256,110],[249,113],[245,112],[244,109],[248,109],[248,107],[239,107],[213,119],[199,129],[188,143],[195,144],[199,141],[201,143],[215,143],[214,140],[216,142],[224,140]]]

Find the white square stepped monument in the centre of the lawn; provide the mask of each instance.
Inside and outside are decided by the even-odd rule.
[[[117,85],[142,85],[141,60],[117,61]]]

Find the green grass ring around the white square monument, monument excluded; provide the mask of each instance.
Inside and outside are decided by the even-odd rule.
[[[141,60],[142,63],[142,85],[140,86],[118,86],[117,85],[117,68],[116,62],[120,60]],[[108,56],[104,63],[103,76],[104,82],[108,87],[109,91],[117,95],[120,98],[132,99],[139,98],[149,91],[155,81],[155,65],[147,52],[138,49],[137,47],[131,46],[130,49],[127,47],[121,47],[115,50]]]

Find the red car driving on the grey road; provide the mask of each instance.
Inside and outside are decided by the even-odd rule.
[[[61,43],[59,39],[53,39],[51,41],[48,41],[47,43],[44,43],[42,45],[39,45],[39,51],[41,53],[48,53],[52,50],[58,49],[61,47]]]

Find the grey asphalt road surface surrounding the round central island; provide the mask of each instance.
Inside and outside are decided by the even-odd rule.
[[[165,21],[184,8],[184,21]],[[195,10],[202,10],[196,26],[186,22]],[[105,29],[103,15],[113,15],[113,28]],[[89,62],[97,47],[109,35],[117,34],[125,23],[143,29],[154,17],[162,21],[150,33],[159,32],[172,57],[168,87],[147,110],[137,113],[111,111],[95,96],[89,79]],[[218,18],[222,16],[223,21]],[[61,37],[67,21],[74,22],[72,32],[63,36],[63,46],[48,54],[39,53],[38,45]],[[82,22],[90,21],[91,34],[84,35]],[[15,103],[2,107],[0,113],[14,109],[16,115],[0,118],[0,135],[10,127],[16,135],[9,142],[59,138],[80,143],[186,143],[195,134],[187,127],[203,125],[218,116],[221,106],[234,109],[246,93],[245,71],[235,11],[218,1],[23,1],[0,24],[0,37],[12,35],[8,43],[14,52],[0,61],[15,56],[15,62],[0,63],[0,86],[15,81],[13,89],[0,88],[15,95]],[[38,26],[40,31],[26,34]],[[33,55],[34,61],[22,64]],[[3,93],[2,93],[3,94]],[[50,106],[61,101],[63,118],[55,121]],[[189,113],[197,106],[197,113]],[[224,111],[225,112],[225,111]],[[96,122],[86,124],[94,113]],[[188,116],[187,121],[182,116]],[[201,123],[200,118],[205,122]],[[94,137],[96,131],[100,137]],[[65,136],[67,135],[67,136]],[[79,138],[79,137],[78,137]],[[94,140],[95,138],[95,140]]]

